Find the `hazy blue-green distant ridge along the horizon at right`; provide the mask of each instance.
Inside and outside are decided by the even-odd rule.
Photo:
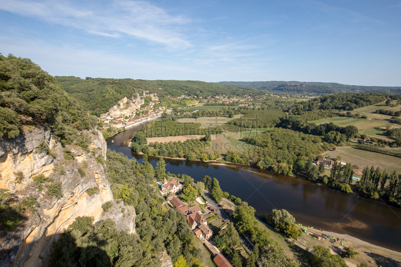
[[[401,94],[401,87],[359,86],[338,83],[267,81],[267,82],[219,82],[221,85],[235,85],[268,92],[288,92],[294,94],[335,94],[344,92],[361,92],[375,94]]]

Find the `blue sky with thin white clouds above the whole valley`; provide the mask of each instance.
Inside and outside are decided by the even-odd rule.
[[[401,86],[401,1],[0,4],[0,53],[51,75]]]

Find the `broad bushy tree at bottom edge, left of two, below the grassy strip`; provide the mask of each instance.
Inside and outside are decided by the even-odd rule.
[[[278,245],[270,245],[262,249],[258,260],[260,267],[299,267],[299,264],[285,254]]]

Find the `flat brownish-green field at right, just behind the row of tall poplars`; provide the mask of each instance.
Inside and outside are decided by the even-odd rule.
[[[394,170],[401,173],[401,158],[364,151],[351,147],[338,148],[336,151],[330,151],[325,154],[329,158],[338,158],[342,156],[342,162],[351,162],[363,170],[366,166],[379,166],[381,170],[386,169],[387,172],[392,173]]]

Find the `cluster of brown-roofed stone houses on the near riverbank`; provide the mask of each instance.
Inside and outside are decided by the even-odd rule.
[[[169,208],[173,208],[186,217],[191,230],[195,233],[197,238],[203,241],[204,246],[213,256],[213,261],[216,266],[233,267],[211,240],[214,232],[211,227],[215,232],[216,230],[222,230],[227,227],[229,220],[222,219],[217,210],[212,205],[208,205],[208,200],[203,195],[197,196],[196,199],[190,203],[183,202],[179,198],[183,186],[178,179],[169,178],[169,180],[167,180],[163,178],[161,183],[157,182],[157,185],[159,186],[161,194],[166,197]],[[235,206],[234,203],[229,202],[229,200],[224,199],[224,201],[220,203],[220,206]]]

